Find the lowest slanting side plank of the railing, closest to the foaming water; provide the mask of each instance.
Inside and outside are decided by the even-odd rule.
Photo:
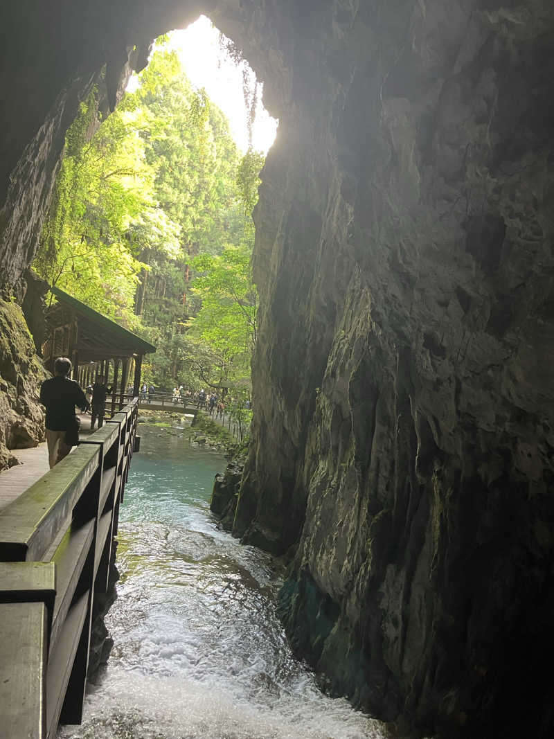
[[[86,612],[89,607],[89,590],[72,605],[58,638],[57,648],[50,655],[47,670],[47,735],[55,737],[61,706],[64,703],[69,675],[75,653],[81,639]],[[15,736],[15,735],[14,735]]]

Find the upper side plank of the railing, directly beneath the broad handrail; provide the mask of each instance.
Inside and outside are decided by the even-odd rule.
[[[53,561],[58,573],[58,592],[54,605],[54,618],[50,633],[50,651],[58,641],[75,588],[81,577],[95,534],[95,522],[89,521],[76,530],[69,528],[55,551]]]

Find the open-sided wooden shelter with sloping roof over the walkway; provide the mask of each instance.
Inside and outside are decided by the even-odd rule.
[[[69,357],[73,379],[86,387],[98,375],[108,378],[113,363],[114,398],[119,389],[123,402],[131,369],[133,395],[138,395],[143,356],[155,352],[156,347],[59,287],[50,291],[57,302],[46,312],[47,339],[42,351],[47,369],[53,372],[56,357]]]

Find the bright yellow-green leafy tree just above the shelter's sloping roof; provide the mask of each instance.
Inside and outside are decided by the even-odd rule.
[[[66,157],[44,227],[35,270],[95,310],[134,325],[142,268],[129,241],[133,219],[152,207],[151,171],[132,121],[112,115],[87,143],[97,91],[81,105],[66,138]]]

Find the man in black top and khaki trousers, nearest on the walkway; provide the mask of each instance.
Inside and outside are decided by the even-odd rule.
[[[41,384],[41,403],[47,409],[46,437],[50,469],[71,452],[72,439],[66,438],[75,431],[75,406],[86,411],[89,402],[75,380],[69,379],[71,361],[58,357],[54,363],[54,377]],[[68,443],[69,442],[69,443]]]

